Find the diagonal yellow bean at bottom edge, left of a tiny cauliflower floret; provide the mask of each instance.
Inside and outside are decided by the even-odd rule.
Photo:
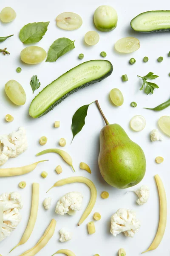
[[[34,247],[32,247],[30,250],[27,250],[25,253],[21,254],[20,256],[34,256],[35,254],[37,254],[42,248],[45,247],[45,245],[54,235],[55,227],[56,227],[56,221],[52,219],[50,225],[45,230],[44,235],[40,238],[37,244]]]

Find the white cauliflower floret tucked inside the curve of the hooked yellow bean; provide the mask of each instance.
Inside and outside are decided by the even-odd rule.
[[[67,193],[57,202],[55,212],[64,215],[70,210],[73,210],[74,212],[80,211],[82,207],[82,199],[83,196],[80,192]]]

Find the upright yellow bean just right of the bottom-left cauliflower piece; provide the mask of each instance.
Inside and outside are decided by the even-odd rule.
[[[21,244],[25,244],[30,238],[32,231],[34,230],[34,226],[35,226],[35,222],[37,220],[37,214],[38,214],[39,188],[40,188],[40,185],[38,183],[32,184],[32,205],[31,205],[31,214],[29,217],[28,225],[26,227],[26,230],[20,242],[12,250],[14,250],[16,247],[18,247]]]

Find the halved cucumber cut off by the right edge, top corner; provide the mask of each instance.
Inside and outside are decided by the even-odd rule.
[[[130,26],[143,33],[170,31],[170,11],[143,12],[131,20]]]

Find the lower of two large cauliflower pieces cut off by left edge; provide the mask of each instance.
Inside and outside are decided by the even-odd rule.
[[[23,208],[21,196],[17,192],[0,195],[0,203],[3,206],[3,223],[0,230],[0,241],[11,234],[21,221],[19,209]]]

